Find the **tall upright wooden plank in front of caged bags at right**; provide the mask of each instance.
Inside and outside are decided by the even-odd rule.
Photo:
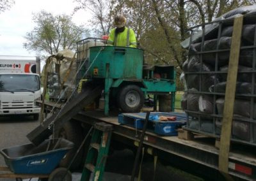
[[[228,155],[230,149],[230,137],[232,129],[232,119],[234,112],[234,101],[236,93],[237,66],[239,62],[239,52],[241,45],[241,33],[243,27],[243,15],[234,20],[234,30],[232,33],[232,43],[228,63],[227,85],[225,92],[225,103],[223,120],[221,127],[219,170],[228,178]]]

